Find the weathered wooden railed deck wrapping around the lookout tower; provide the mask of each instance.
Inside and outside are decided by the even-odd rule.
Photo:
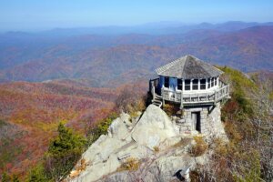
[[[180,103],[180,106],[215,105],[224,98],[229,98],[229,85],[219,81],[219,86],[214,90],[204,90],[198,93],[183,93],[183,91],[170,91],[166,88],[159,90],[158,78],[150,80],[150,93],[153,100],[161,99]],[[182,102],[181,102],[182,101]]]

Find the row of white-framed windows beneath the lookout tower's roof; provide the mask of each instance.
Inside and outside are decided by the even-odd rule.
[[[185,80],[185,90],[190,90],[190,79]],[[169,87],[169,77],[164,78],[164,86]],[[212,77],[207,79],[207,88],[217,86],[217,77]],[[177,79],[177,89],[182,90],[183,81],[182,79]],[[198,90],[198,79],[192,80],[192,89]],[[200,79],[200,89],[206,90],[206,79]]]

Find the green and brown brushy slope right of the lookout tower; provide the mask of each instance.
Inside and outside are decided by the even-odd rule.
[[[231,86],[231,99],[222,107],[229,139],[211,143],[209,165],[191,173],[193,181],[270,181],[273,178],[273,75],[221,67]]]

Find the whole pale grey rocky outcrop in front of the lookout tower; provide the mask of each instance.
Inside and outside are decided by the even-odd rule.
[[[209,150],[191,155],[195,143],[193,134],[179,133],[176,121],[158,106],[150,105],[135,117],[122,113],[108,134],[86,150],[66,181],[182,180],[211,155]]]

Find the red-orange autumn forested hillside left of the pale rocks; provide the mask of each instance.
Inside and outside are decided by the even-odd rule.
[[[61,83],[0,86],[0,173],[25,175],[56,136],[60,122],[85,134],[113,109],[118,90]]]

